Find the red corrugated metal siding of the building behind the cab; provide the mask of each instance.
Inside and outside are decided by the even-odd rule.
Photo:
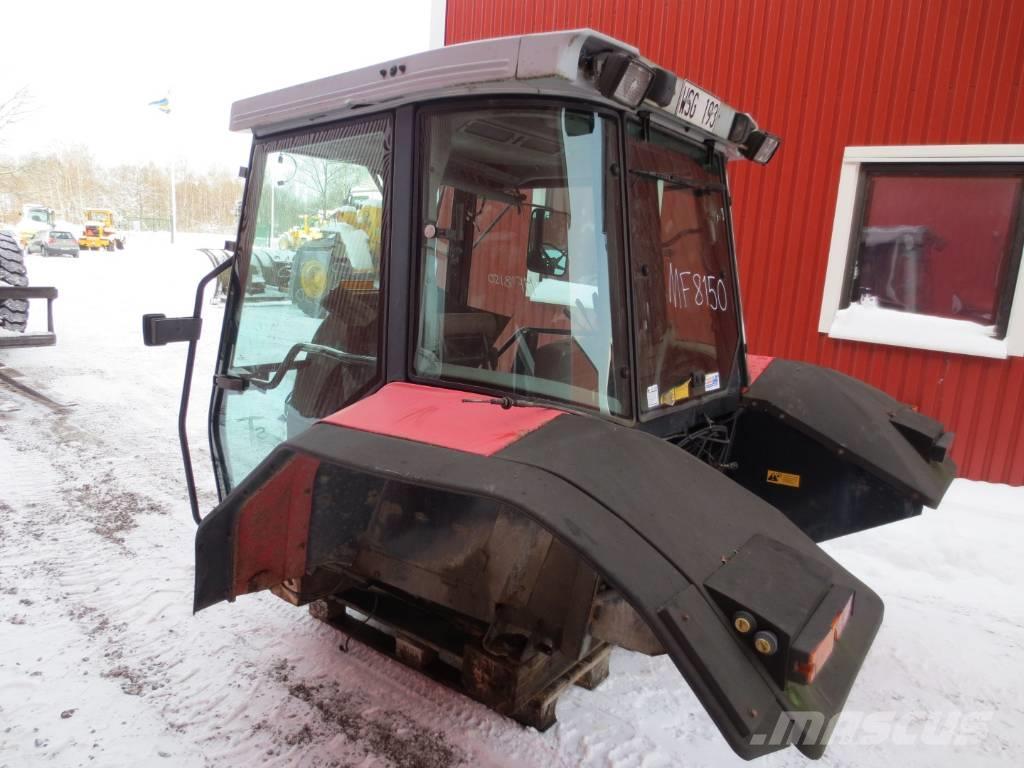
[[[962,475],[1024,484],[1024,358],[817,332],[844,147],[1024,142],[1024,2],[447,0],[445,41],[577,27],[636,45],[783,137],[767,168],[732,171],[751,351],[864,379],[954,430]]]

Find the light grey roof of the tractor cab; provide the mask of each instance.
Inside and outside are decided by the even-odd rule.
[[[698,139],[713,138],[730,156],[735,155],[736,144],[729,140],[729,134],[737,114],[746,121],[748,130],[756,127],[750,116],[725,103],[721,103],[713,130],[684,121],[678,116],[682,78],[642,57],[633,46],[588,29],[436,48],[244,98],[231,105],[229,127],[262,136],[402,103],[470,94],[561,95],[629,109],[602,94],[588,66],[595,56],[605,53],[627,54],[669,83],[669,90],[663,90],[659,98],[664,105],[648,96],[637,108],[649,112],[658,122],[700,134]]]

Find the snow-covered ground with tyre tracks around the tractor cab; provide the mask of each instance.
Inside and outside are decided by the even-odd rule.
[[[0,389],[0,766],[740,764],[665,658],[616,652],[541,734],[358,643],[341,652],[268,594],[191,615],[184,347],[143,347],[139,321],[190,311],[208,264],[185,245],[29,259],[33,283],[60,291],[58,344],[0,362],[75,404]],[[220,312],[206,308],[189,422],[207,509]],[[823,764],[1021,764],[1021,541],[1024,489],[956,481],[941,509],[827,546],[887,608]],[[762,764],[805,762],[786,750]]]

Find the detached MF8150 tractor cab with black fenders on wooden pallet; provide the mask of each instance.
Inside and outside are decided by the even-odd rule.
[[[740,756],[819,757],[883,605],[818,544],[938,505],[955,470],[941,424],[746,353],[727,168],[779,138],[590,30],[285,88],[230,125],[254,136],[234,256],[193,316],[142,323],[189,342],[195,609],[270,590],[542,730],[610,648],[668,654]],[[317,241],[315,296],[259,302],[282,154],[372,180],[381,215]],[[221,272],[204,515],[184,417]]]

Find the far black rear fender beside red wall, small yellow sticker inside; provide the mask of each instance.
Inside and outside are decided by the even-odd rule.
[[[837,371],[759,361],[732,445],[739,484],[816,542],[939,505],[956,474],[939,422]]]

